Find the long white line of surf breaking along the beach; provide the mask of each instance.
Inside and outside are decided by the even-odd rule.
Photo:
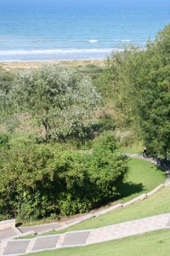
[[[34,49],[34,50],[0,50],[0,55],[57,55],[78,53],[110,53],[111,48],[105,49]]]

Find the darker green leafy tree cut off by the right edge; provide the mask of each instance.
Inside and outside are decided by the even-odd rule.
[[[139,117],[145,143],[153,155],[170,151],[170,25],[158,32],[144,52]]]

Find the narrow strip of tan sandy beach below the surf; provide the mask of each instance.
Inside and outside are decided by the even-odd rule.
[[[54,60],[54,61],[0,61],[0,67],[6,71],[26,70],[40,67],[43,63],[60,65],[63,67],[84,67],[86,65],[105,66],[105,59],[82,59],[82,60]]]

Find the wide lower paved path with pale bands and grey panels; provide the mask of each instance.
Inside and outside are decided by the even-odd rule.
[[[113,224],[94,230],[73,231],[27,240],[3,240],[0,244],[0,255],[20,255],[62,247],[85,246],[167,228],[170,228],[170,213]]]

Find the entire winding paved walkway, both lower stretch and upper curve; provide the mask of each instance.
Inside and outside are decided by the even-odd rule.
[[[141,158],[149,160],[156,164],[156,160],[143,158],[139,154],[127,154],[130,157]],[[73,224],[82,222],[85,219],[97,217],[106,212],[111,212],[120,207],[126,207],[127,205],[143,200],[144,198],[154,194],[158,189],[170,183],[169,170],[167,170],[168,179],[166,183],[159,185],[156,189],[153,189],[147,195],[140,195],[139,197],[128,201],[124,204],[117,204],[113,207],[108,207],[104,210],[95,212],[94,214],[88,213],[79,218],[74,218],[66,221],[65,223],[52,223],[35,225],[31,227],[20,227],[20,229],[13,228],[11,230],[0,231],[0,255],[20,255],[25,253],[34,253],[37,251],[54,249],[60,247],[75,247],[84,246],[101,241],[110,241],[126,236],[134,236],[153,230],[161,230],[170,228],[170,213],[153,216],[150,218],[141,218],[133,221],[128,221],[121,224],[113,224],[94,230],[81,230],[68,232],[61,235],[54,236],[37,236],[28,240],[14,240],[17,236],[26,236],[28,234],[42,234],[50,230],[63,230]]]

